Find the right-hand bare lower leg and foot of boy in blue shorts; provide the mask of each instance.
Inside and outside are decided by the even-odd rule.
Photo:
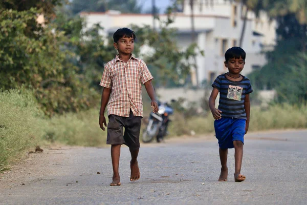
[[[241,174],[242,158],[243,158],[243,142],[239,140],[233,141],[234,146],[234,181],[240,182],[245,180],[245,176]]]

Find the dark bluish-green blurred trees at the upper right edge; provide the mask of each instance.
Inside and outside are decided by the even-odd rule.
[[[277,22],[276,46],[273,51],[267,52],[268,63],[249,77],[257,88],[276,89],[279,101],[306,103],[306,95],[302,94],[306,90],[301,85],[307,81],[307,22],[302,17],[307,12],[307,5],[304,0],[264,2],[269,16]]]

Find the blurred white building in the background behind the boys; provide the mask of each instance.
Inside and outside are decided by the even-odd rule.
[[[174,23],[170,25],[178,28],[177,42],[183,49],[192,43],[191,10],[188,2],[186,1],[187,4],[183,6],[182,12],[174,13]],[[243,27],[244,7],[228,0],[213,2],[213,6],[196,3],[194,9],[196,42],[205,53],[205,56],[200,55],[196,58],[199,84],[203,81],[211,83],[217,75],[227,72],[224,66],[224,54],[228,48],[238,46]],[[131,24],[138,26],[153,24],[153,17],[150,14],[108,11],[83,12],[80,15],[86,18],[89,27],[100,23],[104,28],[104,35],[111,35],[118,28],[128,27]],[[166,18],[165,14],[160,15],[160,19]],[[156,25],[158,24],[157,20]],[[275,44],[275,26],[276,23],[270,23],[265,13],[261,13],[258,19],[253,13],[248,14],[242,45],[247,53],[243,75],[247,75],[253,69],[259,69],[266,63],[265,55],[261,54],[261,51]],[[195,77],[195,72],[192,72],[194,85]]]

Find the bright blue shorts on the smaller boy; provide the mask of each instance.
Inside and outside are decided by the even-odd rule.
[[[222,149],[234,148],[233,141],[239,140],[244,144],[246,119],[222,117],[214,121],[215,137]]]

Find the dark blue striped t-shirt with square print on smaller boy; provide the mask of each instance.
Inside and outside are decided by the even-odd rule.
[[[212,87],[220,91],[218,109],[222,111],[222,117],[246,119],[245,95],[253,92],[253,89],[250,80],[243,75],[242,77],[240,81],[232,81],[222,74],[214,80]]]

